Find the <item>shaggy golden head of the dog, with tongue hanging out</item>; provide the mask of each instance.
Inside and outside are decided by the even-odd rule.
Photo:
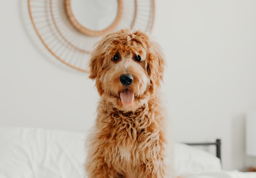
[[[89,78],[114,107],[132,111],[155,96],[163,80],[163,58],[158,44],[144,32],[120,30],[95,46]]]

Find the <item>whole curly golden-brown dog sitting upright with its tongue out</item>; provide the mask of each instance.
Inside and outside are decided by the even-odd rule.
[[[158,44],[141,31],[120,30],[97,43],[89,78],[101,99],[87,141],[88,178],[169,177],[158,96],[164,64]]]

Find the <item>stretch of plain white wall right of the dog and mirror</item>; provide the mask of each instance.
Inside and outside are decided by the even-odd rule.
[[[165,49],[163,92],[175,138],[221,138],[223,167],[243,170],[245,112],[256,110],[256,1],[158,1],[153,35]]]

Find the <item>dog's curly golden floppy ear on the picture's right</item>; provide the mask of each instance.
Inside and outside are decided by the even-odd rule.
[[[160,86],[160,82],[163,81],[163,71],[165,66],[164,54],[161,46],[153,41],[149,47],[147,73],[150,76],[150,89],[153,92],[154,89]]]

